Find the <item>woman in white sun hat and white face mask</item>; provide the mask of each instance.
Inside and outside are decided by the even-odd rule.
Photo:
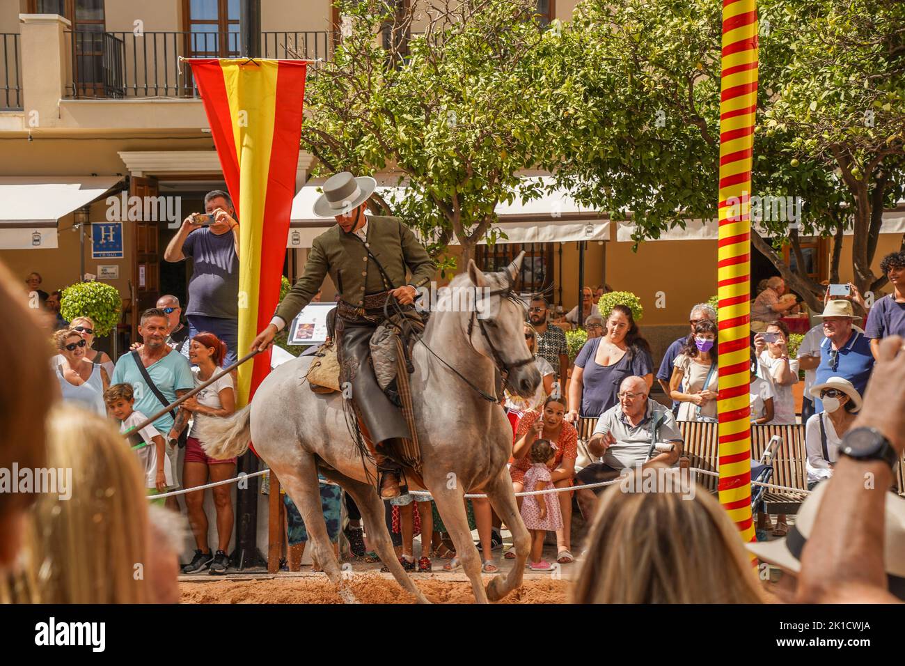
[[[861,410],[861,394],[851,381],[830,377],[811,387],[811,395],[824,403],[824,411],[814,414],[805,425],[807,489],[833,476],[839,443]]]

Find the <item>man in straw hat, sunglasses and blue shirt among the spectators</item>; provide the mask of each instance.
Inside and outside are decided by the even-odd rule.
[[[855,390],[863,394],[873,370],[871,341],[853,324],[861,317],[855,316],[852,302],[843,299],[829,301],[823,314],[815,314],[823,320],[824,340],[820,343],[820,363],[814,372],[814,382],[824,383],[830,377],[843,377],[851,381]],[[814,411],[824,410],[819,398],[814,399]]]

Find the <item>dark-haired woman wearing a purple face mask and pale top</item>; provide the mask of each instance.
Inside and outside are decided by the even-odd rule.
[[[717,324],[696,323],[681,352],[672,363],[670,396],[679,403],[676,420],[717,420]]]

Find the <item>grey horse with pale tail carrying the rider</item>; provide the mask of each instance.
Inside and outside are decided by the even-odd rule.
[[[524,304],[512,291],[524,253],[505,270],[484,274],[473,261],[437,301],[412,352],[410,375],[424,486],[436,501],[478,603],[497,601],[519,587],[530,537],[522,523],[506,468],[512,429],[495,399],[495,376],[504,372],[510,392],[534,394],[541,381],[525,343]],[[462,297],[464,296],[464,297]],[[472,304],[456,307],[455,304]],[[349,433],[340,393],[310,391],[304,380],[311,357],[283,363],[262,381],[252,402],[226,419],[199,424],[205,451],[232,458],[254,448],[299,507],[314,554],[347,603],[356,602],[333,549],[320,507],[318,471],[355,499],[368,537],[395,580],[420,603],[424,594],[393,552],[384,504],[369,482],[375,470],[363,461]],[[472,541],[463,495],[483,492],[512,533],[516,563],[485,590],[481,557]]]

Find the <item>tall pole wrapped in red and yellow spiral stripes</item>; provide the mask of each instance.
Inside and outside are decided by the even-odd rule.
[[[719,98],[719,502],[745,541],[751,519],[750,193],[757,2],[723,0]]]

